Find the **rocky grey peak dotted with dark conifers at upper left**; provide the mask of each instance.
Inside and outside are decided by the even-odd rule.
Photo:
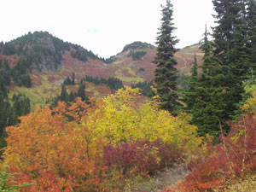
[[[49,32],[29,32],[25,36],[16,38],[3,46],[4,55],[20,55],[26,60],[26,69],[42,70],[44,58],[51,61],[44,63],[44,67],[56,69],[61,65],[61,55],[70,49],[70,44],[55,38]],[[53,66],[49,66],[53,65]]]

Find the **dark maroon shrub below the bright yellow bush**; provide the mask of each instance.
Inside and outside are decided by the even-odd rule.
[[[103,154],[105,165],[117,167],[125,177],[131,177],[134,173],[144,176],[154,174],[181,160],[182,153],[175,146],[162,143],[160,140],[108,145],[104,147]]]

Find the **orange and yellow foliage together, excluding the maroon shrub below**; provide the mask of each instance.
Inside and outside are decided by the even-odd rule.
[[[20,125],[7,128],[4,159],[33,178],[42,172],[66,178],[71,175],[73,182],[85,188],[96,174],[102,177],[104,145],[160,139],[186,153],[201,144],[187,114],[173,117],[157,108],[157,99],[138,101],[139,90],[125,87],[115,95],[91,101],[90,107],[78,99],[70,107],[59,102],[54,109],[37,108],[21,117]],[[159,148],[150,153],[158,156]],[[157,160],[160,162],[160,157]]]

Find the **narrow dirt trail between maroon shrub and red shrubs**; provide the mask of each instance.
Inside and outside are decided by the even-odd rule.
[[[150,181],[137,185],[137,187],[133,189],[132,192],[164,191],[166,186],[170,186],[180,180],[184,180],[189,173],[190,172],[184,168],[184,165],[176,165],[158,173]]]

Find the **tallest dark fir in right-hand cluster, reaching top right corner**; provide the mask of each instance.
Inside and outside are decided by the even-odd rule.
[[[213,38],[215,42],[214,55],[218,57],[224,67],[224,83],[227,87],[227,98],[225,98],[227,113],[234,115],[242,99],[244,92],[242,82],[251,77],[252,70],[255,71],[255,55],[253,55],[253,22],[248,19],[252,0],[212,0],[217,15],[217,26],[213,27]],[[255,14],[255,12],[254,12]],[[253,15],[251,15],[253,18]],[[250,28],[252,30],[250,30]],[[249,35],[249,33],[251,34]],[[254,59],[253,59],[254,57]],[[253,61],[254,60],[254,61]]]

